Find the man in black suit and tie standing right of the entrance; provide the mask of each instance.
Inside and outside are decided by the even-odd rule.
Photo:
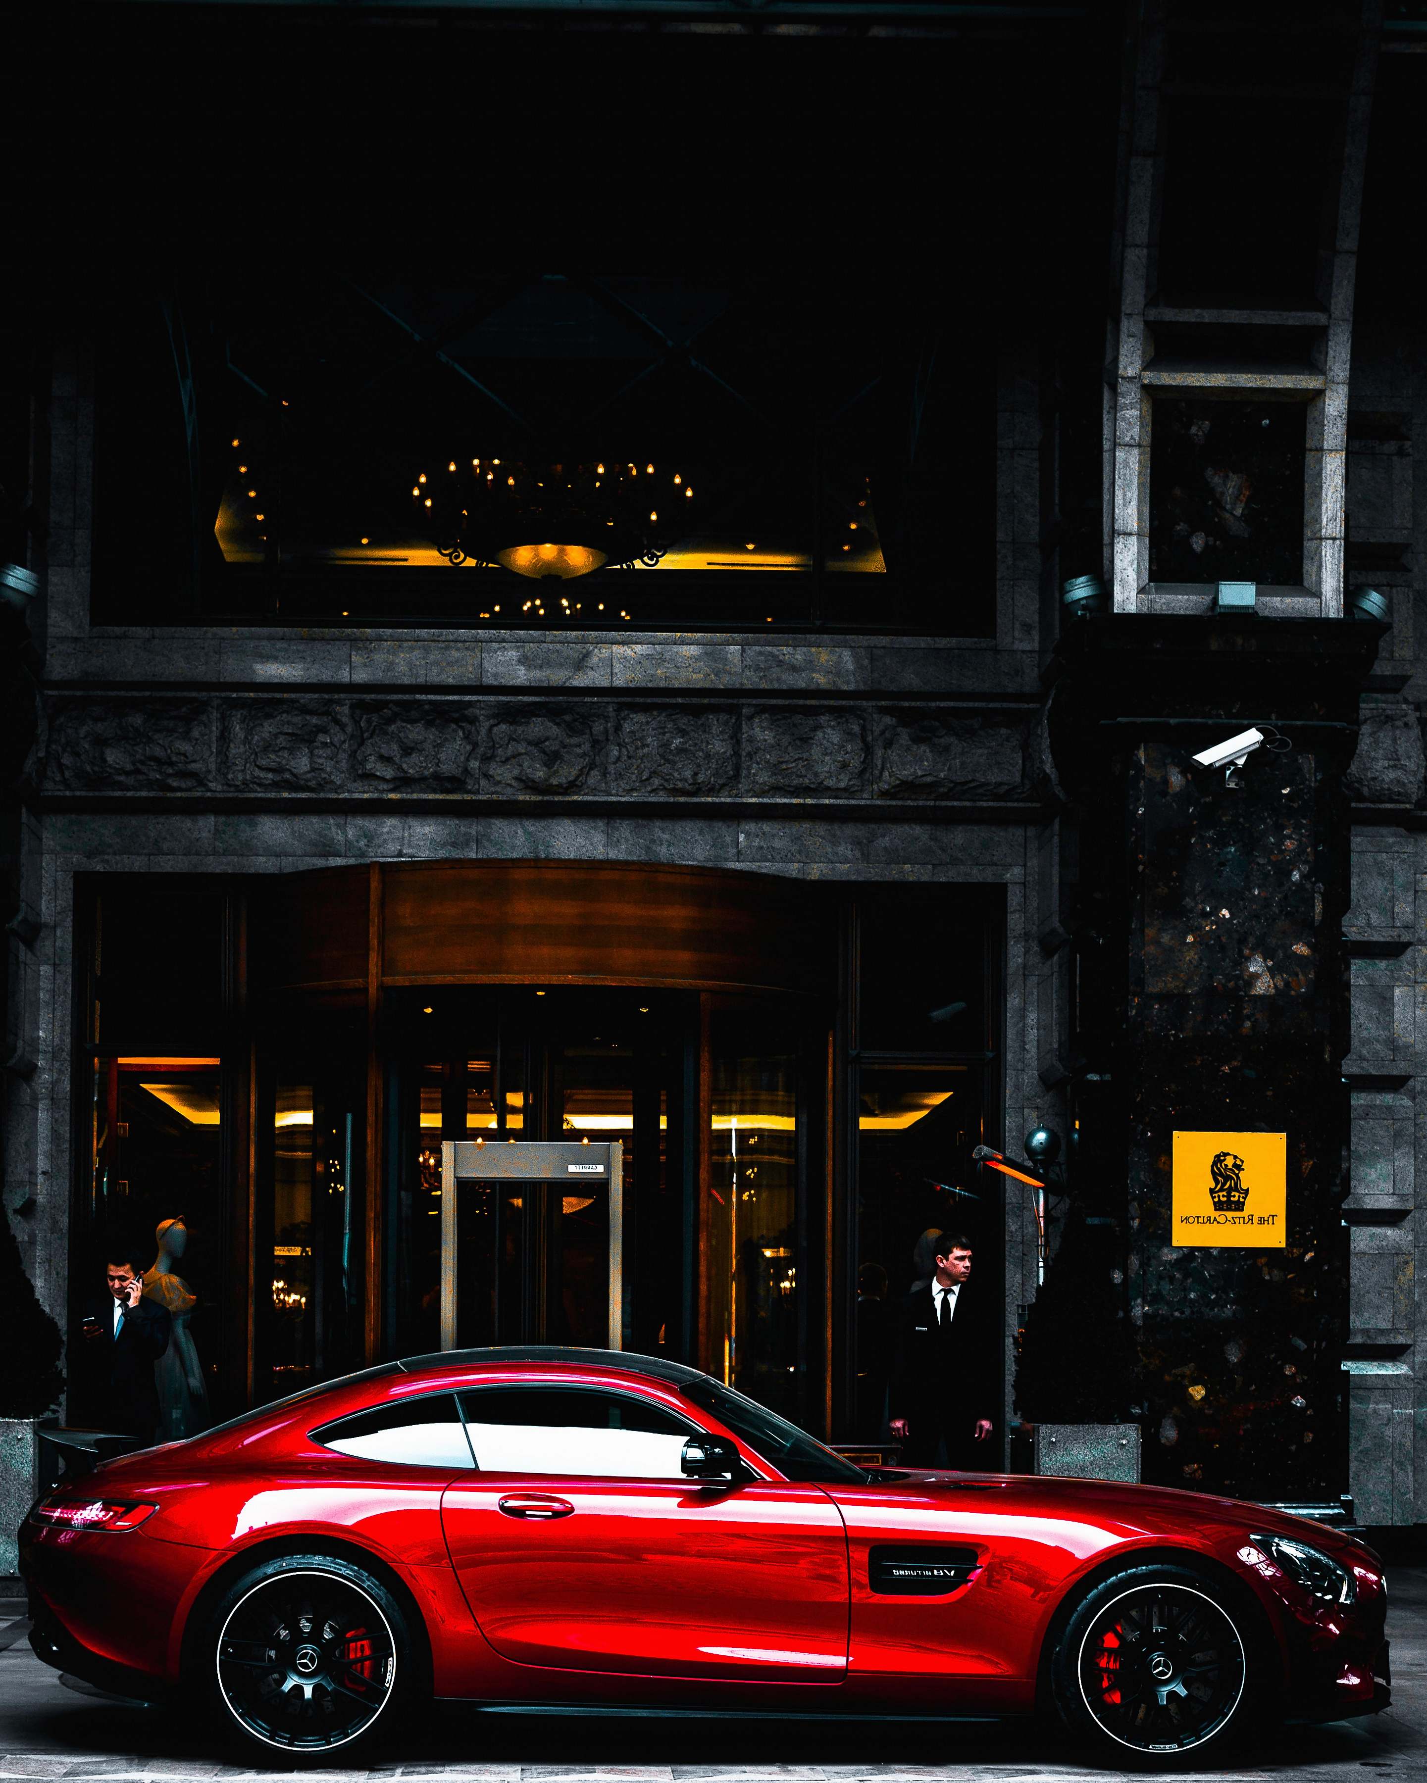
[[[936,1273],[903,1303],[892,1435],[906,1467],[994,1466],[992,1325],[970,1282],[970,1239],[944,1232]]]

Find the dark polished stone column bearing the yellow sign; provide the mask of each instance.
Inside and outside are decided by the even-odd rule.
[[[1122,1412],[1143,1473],[1259,1500],[1347,1489],[1347,768],[1381,626],[1115,615],[1051,669],[1081,826],[1081,1173],[1120,1221]],[[1193,754],[1252,724],[1225,785]],[[1284,1132],[1283,1246],[1175,1246],[1177,1130]],[[1247,1179],[1245,1179],[1247,1180]],[[1252,1209],[1250,1209],[1252,1211]]]

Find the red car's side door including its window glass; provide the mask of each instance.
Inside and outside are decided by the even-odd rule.
[[[840,1683],[847,1542],[817,1485],[687,1480],[701,1426],[603,1387],[460,1396],[476,1471],[442,1498],[446,1542],[491,1646],[523,1665]]]

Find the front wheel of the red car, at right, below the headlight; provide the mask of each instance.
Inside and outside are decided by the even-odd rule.
[[[1051,1653],[1061,1722],[1102,1762],[1174,1769],[1277,1719],[1279,1690],[1247,1598],[1190,1565],[1101,1580]]]

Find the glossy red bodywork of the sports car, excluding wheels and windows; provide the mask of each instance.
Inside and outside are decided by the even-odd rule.
[[[614,1387],[738,1441],[640,1359],[489,1355],[353,1376],[78,1482],[75,1496],[159,1510],[114,1532],[25,1523],[21,1569],[50,1642],[37,1639],[37,1651],[59,1664],[62,1649],[66,1669],[100,1683],[121,1669],[148,1690],[175,1685],[212,1590],[278,1546],[318,1548],[398,1583],[425,1628],[437,1696],[1019,1712],[1036,1703],[1058,1615],[1106,1567],[1138,1555],[1193,1560],[1250,1592],[1300,1706],[1347,1713],[1373,1697],[1375,1558],[1254,1505],[890,1469],[796,1482],[746,1442],[749,1476],[726,1491],[683,1478],[498,1475],[362,1460],[310,1435],[442,1389],[544,1384]],[[1331,1553],[1356,1574],[1357,1603],[1325,1606],[1261,1553],[1245,1558],[1252,1532]],[[879,1589],[878,1555],[928,1549],[960,1557],[945,1589]]]

